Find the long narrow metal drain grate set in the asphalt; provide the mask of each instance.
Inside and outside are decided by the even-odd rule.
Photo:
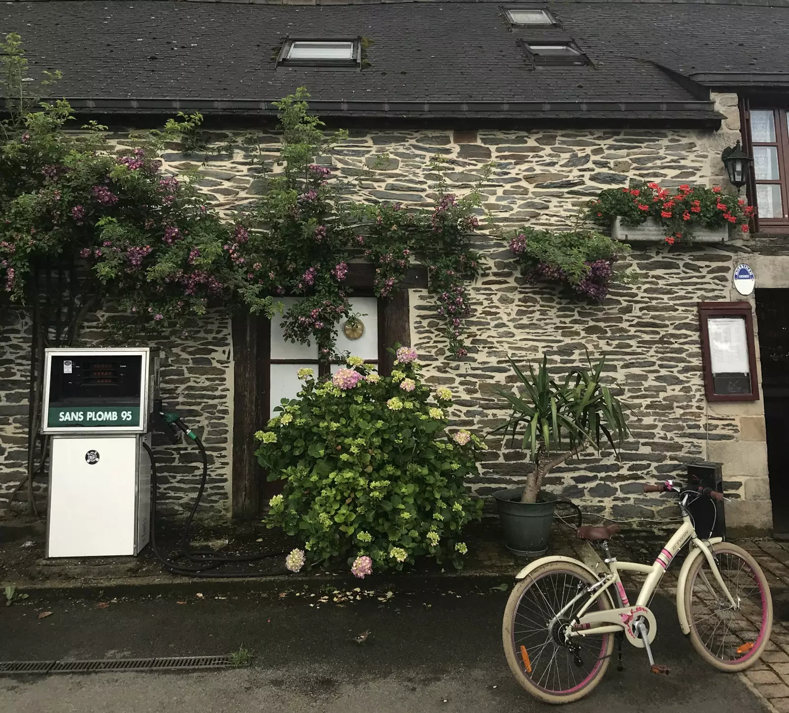
[[[156,659],[0,661],[2,674],[95,674],[102,671],[177,671],[226,668],[227,656],[168,656]]]

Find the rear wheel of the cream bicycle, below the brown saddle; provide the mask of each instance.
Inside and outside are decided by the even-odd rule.
[[[502,630],[507,663],[518,683],[547,703],[570,703],[586,696],[608,668],[614,648],[611,634],[573,636],[570,640],[564,636],[565,627],[587,597],[558,616],[595,581],[573,562],[548,562],[510,593]],[[611,597],[603,592],[590,611],[612,608]]]

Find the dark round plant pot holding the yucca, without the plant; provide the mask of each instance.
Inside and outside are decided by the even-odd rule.
[[[521,502],[522,487],[493,494],[499,506],[507,549],[520,557],[540,557],[548,551],[556,501],[548,495],[542,502]]]

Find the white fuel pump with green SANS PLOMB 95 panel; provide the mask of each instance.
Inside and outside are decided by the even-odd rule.
[[[42,431],[52,436],[47,557],[138,554],[150,538],[149,403],[159,357],[47,349]]]

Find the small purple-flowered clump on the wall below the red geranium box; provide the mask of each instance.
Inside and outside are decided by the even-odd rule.
[[[636,278],[617,264],[630,247],[594,230],[523,228],[510,240],[510,251],[529,282],[558,283],[588,301],[602,302],[612,283]]]

